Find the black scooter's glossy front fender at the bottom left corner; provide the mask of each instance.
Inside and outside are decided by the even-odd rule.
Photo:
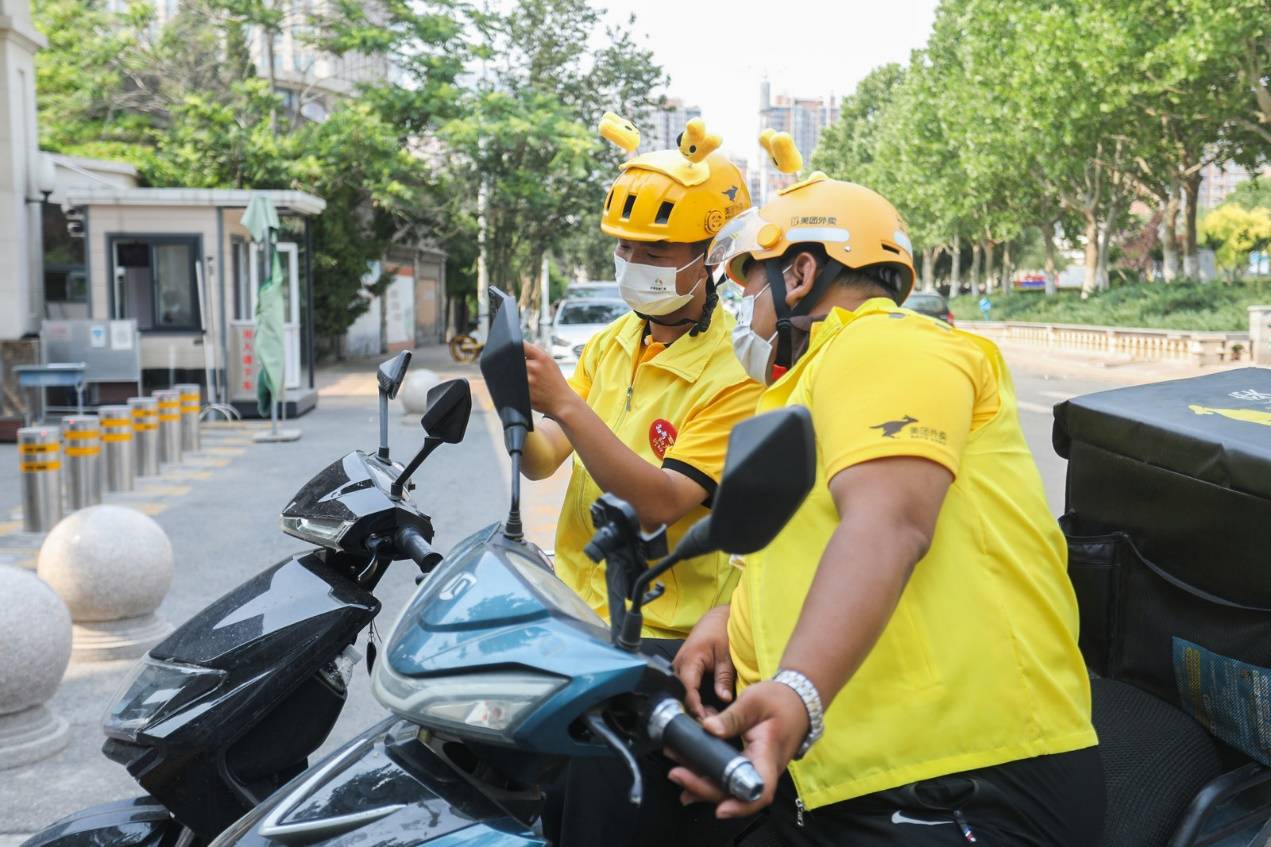
[[[66,815],[22,847],[160,847],[173,844],[180,829],[161,802],[135,797]]]

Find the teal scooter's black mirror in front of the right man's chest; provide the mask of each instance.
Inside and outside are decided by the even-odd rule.
[[[816,482],[812,415],[787,406],[733,427],[710,507],[710,542],[726,553],[771,543]]]

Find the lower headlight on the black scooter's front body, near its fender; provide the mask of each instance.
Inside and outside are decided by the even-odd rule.
[[[113,739],[136,741],[146,726],[216,691],[224,670],[177,665],[146,656],[123,680],[102,721]]]

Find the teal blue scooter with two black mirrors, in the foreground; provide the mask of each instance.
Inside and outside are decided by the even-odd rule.
[[[606,626],[524,538],[519,464],[533,421],[520,320],[511,298],[491,294],[482,371],[512,460],[508,516],[460,542],[393,627],[372,671],[391,716],[295,777],[217,847],[545,844],[543,788],[576,757],[625,762],[634,804],[637,757],[661,748],[733,796],[764,790],[735,747],[685,713],[670,663],[639,651],[642,607],[677,562],[750,553],[775,537],[813,483],[807,411],[733,430],[710,516],[670,552],[665,528],[644,532],[613,495],[596,501],[586,553],[606,565]]]

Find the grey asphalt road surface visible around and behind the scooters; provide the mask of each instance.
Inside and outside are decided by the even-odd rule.
[[[436,351],[422,351],[417,366],[442,375],[477,378],[475,368],[454,368]],[[1099,390],[1107,382],[1049,378],[1043,369],[1017,369],[1021,418],[1037,458],[1055,514],[1063,510],[1064,462],[1050,446],[1050,407],[1073,394]],[[179,624],[211,600],[245,581],[262,567],[304,547],[278,530],[278,510],[291,495],[329,462],[376,441],[374,374],[370,368],[344,368],[324,374],[319,410],[299,421],[304,437],[294,444],[248,444],[239,455],[206,479],[189,483],[156,515],[172,538],[175,575],[159,609]],[[459,539],[501,520],[507,505],[508,467],[502,454],[496,416],[482,390],[463,444],[442,446],[417,476],[416,500],[437,528],[435,546],[447,549]],[[394,410],[391,440],[399,449],[419,440],[414,418]],[[0,516],[19,502],[17,451],[0,445]],[[533,541],[550,547],[555,514],[568,467],[524,491],[524,515]],[[380,584],[384,603],[377,628],[385,633],[414,591],[413,568],[399,563]],[[361,646],[361,645],[360,645]],[[364,647],[365,652],[365,647]],[[0,771],[0,847],[20,841],[56,818],[86,805],[140,794],[131,777],[105,761],[100,720],[132,661],[72,663],[48,703],[71,725],[70,745],[33,766]],[[343,743],[383,716],[371,698],[365,671],[355,675],[350,702],[324,749]]]

